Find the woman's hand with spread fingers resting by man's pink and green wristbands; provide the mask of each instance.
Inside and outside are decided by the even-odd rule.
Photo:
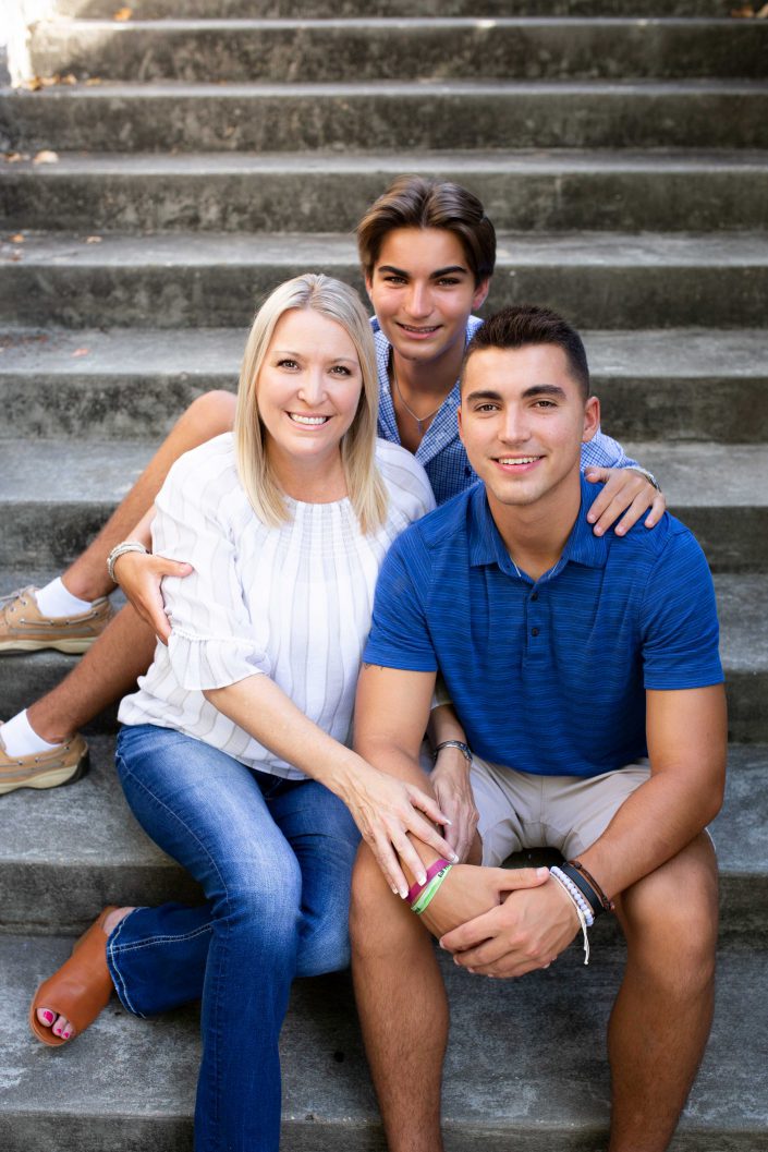
[[[457,859],[454,849],[433,826],[444,826],[450,821],[438,803],[420,788],[372,765],[366,765],[366,770],[356,773],[340,795],[375,856],[387,884],[405,899],[409,882],[401,864],[419,884],[426,877],[426,869],[408,833],[453,862]]]

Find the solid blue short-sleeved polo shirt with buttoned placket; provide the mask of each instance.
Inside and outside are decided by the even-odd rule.
[[[647,755],[645,689],[723,680],[712,576],[664,515],[596,537],[581,505],[557,564],[518,576],[478,484],[412,524],[377,585],[364,660],[440,669],[484,759],[592,776]]]

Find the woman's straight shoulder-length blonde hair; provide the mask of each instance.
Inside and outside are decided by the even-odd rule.
[[[284,494],[269,467],[257,382],[277,320],[290,309],[312,309],[335,320],[355,344],[363,391],[350,427],[341,441],[347,492],[360,531],[373,532],[387,515],[387,490],[375,464],[379,380],[375,346],[367,314],[357,293],[341,280],[305,273],[280,285],[256,313],[237,388],[235,460],[237,475],[253,510],[265,524],[289,518]]]

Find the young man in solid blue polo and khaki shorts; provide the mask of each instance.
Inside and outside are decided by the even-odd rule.
[[[608,1030],[608,1149],[663,1152],[713,1010],[704,829],[722,803],[727,735],[712,578],[671,516],[653,532],[592,532],[579,453],[599,402],[560,317],[512,308],[478,329],[459,425],[482,483],[393,546],[356,710],[366,759],[423,785],[441,673],[469,744],[466,858],[485,865],[448,869],[419,844],[424,873],[401,899],[360,852],[355,985],[388,1146],[442,1149],[448,1007],[425,927],[470,972],[508,978],[555,963],[615,910],[628,960]],[[560,849],[562,867],[499,866],[534,846]]]

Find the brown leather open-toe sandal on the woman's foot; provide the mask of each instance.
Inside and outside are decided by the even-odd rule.
[[[35,993],[29,1025],[38,1040],[51,1048],[69,1041],[40,1024],[38,1008],[50,1008],[58,1016],[63,1016],[75,1025],[76,1036],[79,1036],[109,1002],[114,987],[107,968],[107,938],[102,925],[116,908],[116,904],[109,904],[104,909],[98,920],[75,943],[69,960]]]

